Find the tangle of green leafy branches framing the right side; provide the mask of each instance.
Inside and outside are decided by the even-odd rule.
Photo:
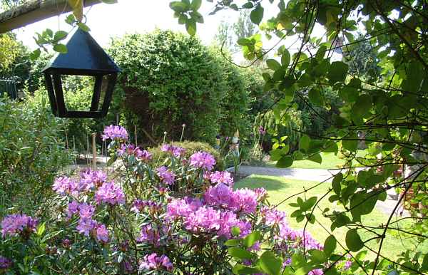
[[[384,239],[397,238],[397,232],[415,238],[420,245],[426,240],[421,238],[428,228],[428,220],[423,218],[428,214],[426,2],[206,2],[210,14],[250,11],[250,19],[260,31],[240,37],[237,43],[251,64],[265,60],[264,91],[275,100],[272,113],[277,125],[287,125],[292,120],[289,110],[302,104],[311,111],[311,120],[327,125],[327,130],[318,133],[295,128],[300,134],[296,149],[287,137],[277,138],[271,160],[277,161],[278,167],[290,167],[302,159],[321,163],[321,152],[345,158],[345,165],[332,171],[326,194],[299,197],[290,204],[297,208],[292,217],[305,222],[305,229],[308,223],[317,223],[314,210],[320,201],[328,199],[334,204],[331,209],[322,209],[332,221],[330,229],[324,228],[330,236],[325,250],[313,251],[309,262],[299,261],[298,256],[293,258],[290,274],[306,274],[317,268],[324,269],[325,274],[338,274],[334,264],[327,262],[340,261],[345,256],[352,258],[352,271],[357,273],[426,273],[428,251],[403,247],[402,255],[389,255],[383,249]],[[179,23],[187,26],[193,11],[190,3],[174,1],[170,6]],[[275,11],[273,16],[266,16],[267,9]],[[195,28],[187,29],[195,35]],[[266,40],[274,46],[263,48]],[[337,94],[338,107],[329,98],[331,93]],[[329,116],[322,115],[325,113]],[[379,221],[378,227],[367,227],[365,216],[392,190],[399,195],[389,218]],[[410,204],[414,214],[411,227],[399,227],[397,209],[402,204]],[[420,206],[412,207],[414,204]],[[334,233],[343,228],[347,234],[342,244]],[[362,238],[363,231],[370,232],[372,238]],[[376,249],[369,249],[370,260],[363,261],[362,255],[367,254],[363,251],[372,245]],[[343,251],[337,252],[339,248]],[[247,266],[249,272],[259,267]],[[284,274],[289,274],[287,270]]]

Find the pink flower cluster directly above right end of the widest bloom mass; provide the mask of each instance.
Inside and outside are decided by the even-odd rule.
[[[233,191],[223,183],[209,187],[204,199],[209,205],[240,213],[254,213],[258,205],[258,194],[253,190],[245,188]]]

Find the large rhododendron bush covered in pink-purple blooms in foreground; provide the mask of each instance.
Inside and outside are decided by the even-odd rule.
[[[320,264],[302,274],[330,269],[322,245],[288,227],[265,190],[233,190],[209,153],[185,159],[182,148],[163,145],[170,157],[161,162],[128,144],[121,127],[107,127],[103,138],[114,172],[58,177],[50,219],[3,217],[0,273],[292,274],[313,255]],[[334,264],[352,270],[347,259]]]

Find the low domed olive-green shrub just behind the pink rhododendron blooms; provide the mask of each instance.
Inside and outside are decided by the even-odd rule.
[[[225,169],[225,162],[223,160],[223,157],[220,156],[220,153],[218,150],[215,150],[211,145],[205,142],[193,142],[185,140],[183,142],[170,142],[170,144],[183,147],[185,149],[184,157],[188,159],[190,155],[192,155],[194,152],[198,151],[205,151],[209,152],[213,157],[215,158],[215,170],[224,170]],[[149,151],[153,154],[153,161],[160,161],[160,163],[165,160],[167,157],[166,152],[161,151],[161,145],[158,147],[150,148]]]

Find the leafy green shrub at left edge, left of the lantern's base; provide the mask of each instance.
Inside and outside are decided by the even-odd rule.
[[[6,205],[43,203],[56,172],[71,163],[61,141],[63,122],[46,112],[47,104],[0,98],[0,213]]]

